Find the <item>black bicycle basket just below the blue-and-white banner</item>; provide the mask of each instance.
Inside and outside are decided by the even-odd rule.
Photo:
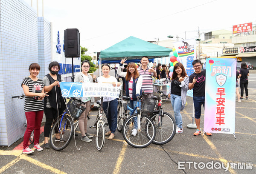
[[[64,112],[67,112],[71,117],[78,119],[85,109],[84,106],[80,106],[75,100],[70,99]]]

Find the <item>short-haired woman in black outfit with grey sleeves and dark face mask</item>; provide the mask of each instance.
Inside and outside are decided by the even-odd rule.
[[[49,64],[49,74],[44,76],[44,91],[49,92],[49,96],[44,99],[44,114],[45,114],[45,125],[44,125],[44,148],[50,148],[48,137],[51,131],[52,121],[55,120],[58,115],[62,114],[66,108],[64,98],[61,96],[61,88],[59,82],[64,82],[63,77],[58,74],[60,70],[60,64],[56,61]],[[55,139],[64,142],[58,130],[55,130]]]

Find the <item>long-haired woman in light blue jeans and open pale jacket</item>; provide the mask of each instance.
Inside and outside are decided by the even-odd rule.
[[[172,108],[176,122],[176,134],[183,133],[180,111],[186,106],[186,93],[189,89],[189,78],[182,63],[176,63],[173,68],[172,80],[168,97],[171,97]]]

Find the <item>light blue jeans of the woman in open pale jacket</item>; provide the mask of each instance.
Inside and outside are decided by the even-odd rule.
[[[176,125],[182,129],[182,117],[180,114],[180,108],[182,106],[181,96],[171,94],[171,102],[172,102],[172,108],[174,111]]]

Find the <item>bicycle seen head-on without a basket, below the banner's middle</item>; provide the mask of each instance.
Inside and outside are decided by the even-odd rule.
[[[103,110],[103,97],[100,98],[100,100],[96,101],[96,103],[99,105],[99,111],[95,120],[95,123],[93,126],[90,126],[90,128],[96,128],[96,148],[98,151],[100,151],[105,143],[105,126],[108,126],[108,123],[104,123],[102,120],[102,115],[104,114]]]

